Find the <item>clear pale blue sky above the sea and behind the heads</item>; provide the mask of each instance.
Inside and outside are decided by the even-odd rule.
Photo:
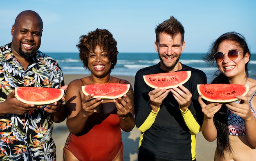
[[[11,42],[18,13],[36,11],[44,22],[40,50],[78,52],[89,31],[108,29],[121,52],[155,52],[155,26],[173,15],[185,29],[184,53],[205,53],[228,31],[241,33],[256,53],[254,0],[4,0],[0,10],[0,45]]]

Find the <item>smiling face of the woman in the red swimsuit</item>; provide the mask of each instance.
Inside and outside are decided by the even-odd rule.
[[[88,68],[93,75],[105,77],[110,73],[111,61],[108,60],[108,53],[103,51],[99,46],[89,53]]]

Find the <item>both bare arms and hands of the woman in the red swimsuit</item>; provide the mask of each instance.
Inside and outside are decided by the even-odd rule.
[[[92,99],[93,95],[84,96],[81,91],[81,81],[74,80],[70,83],[70,90],[67,89],[66,102],[68,108],[67,127],[70,132],[77,134],[81,132],[88,118],[97,110],[104,101],[100,97]],[[89,101],[90,100],[90,101]],[[129,132],[135,126],[133,90],[130,90],[124,97],[112,100],[117,108],[117,115],[120,119],[121,129]]]

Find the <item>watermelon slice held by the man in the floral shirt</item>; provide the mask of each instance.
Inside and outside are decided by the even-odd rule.
[[[63,89],[43,87],[16,87],[15,97],[25,104],[45,105],[59,101],[64,95]]]

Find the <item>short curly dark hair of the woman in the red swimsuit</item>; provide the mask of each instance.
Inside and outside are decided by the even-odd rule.
[[[94,51],[96,46],[100,46],[103,51],[108,53],[108,60],[112,62],[110,72],[117,64],[117,41],[107,29],[96,29],[88,35],[81,35],[79,44],[76,47],[79,49],[79,58],[83,62],[83,66],[88,68],[88,57],[90,51]]]

